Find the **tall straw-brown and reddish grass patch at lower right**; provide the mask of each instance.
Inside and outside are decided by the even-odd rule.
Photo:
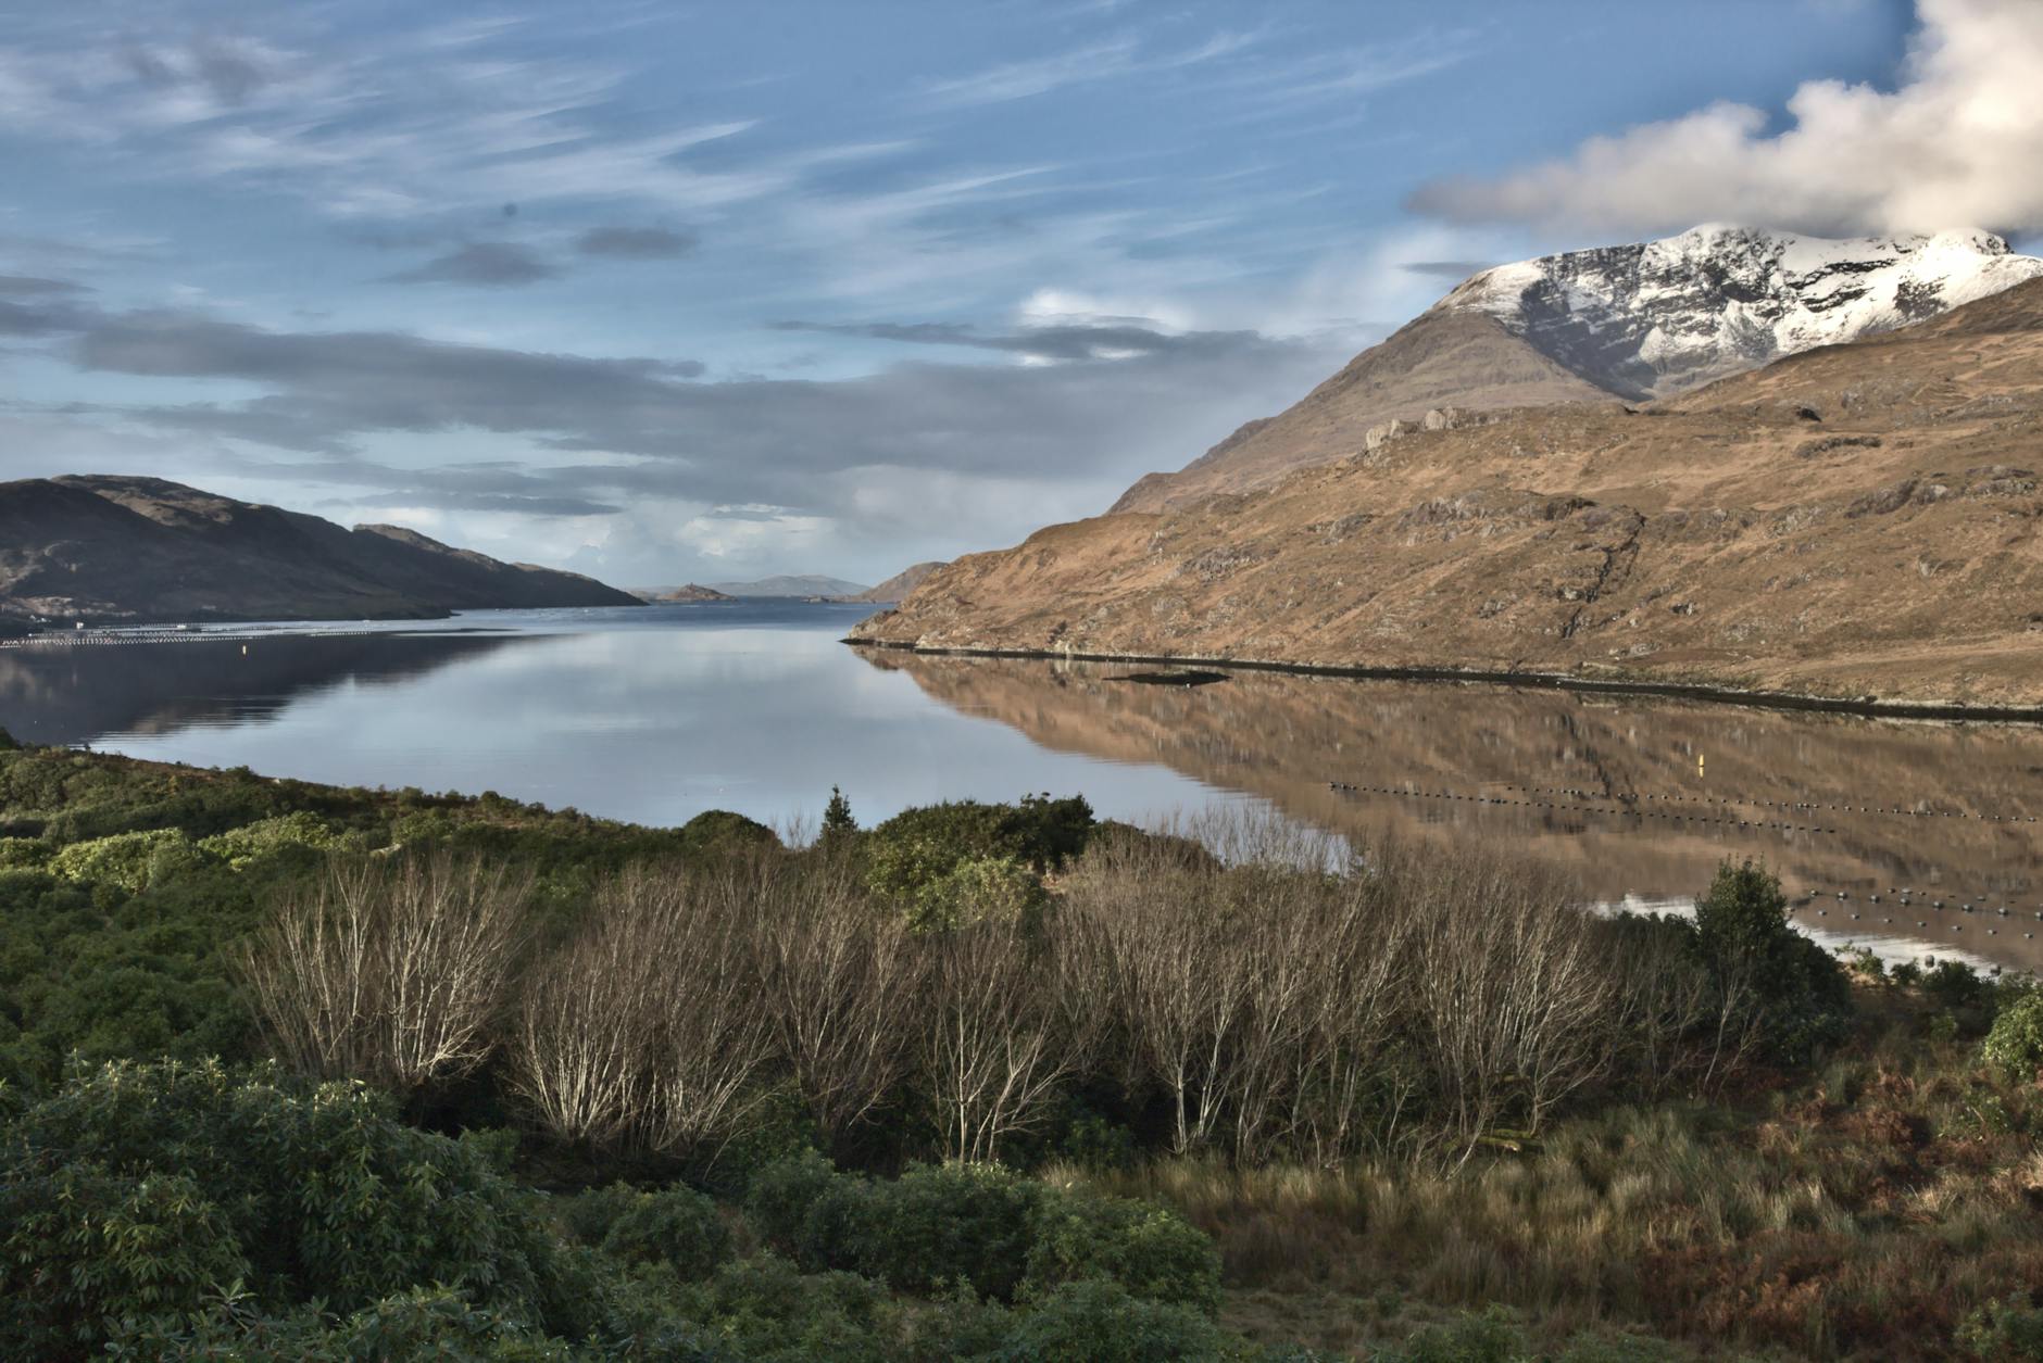
[[[2010,1130],[1978,1110],[2012,1110]],[[2043,1122],[1969,1049],[1873,1000],[1853,1055],[1749,1102],[1622,1106],[1463,1169],[1162,1159],[1046,1177],[1183,1210],[1238,1292],[1506,1302],[1565,1332],[1649,1324],[1810,1357],[1951,1357],[2043,1283]]]

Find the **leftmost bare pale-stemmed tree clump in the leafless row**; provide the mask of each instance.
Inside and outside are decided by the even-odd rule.
[[[488,1057],[529,888],[445,853],[335,861],[274,906],[243,977],[294,1067],[415,1092]]]

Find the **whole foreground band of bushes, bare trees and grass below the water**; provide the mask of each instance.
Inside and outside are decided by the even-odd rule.
[[[1081,800],[0,751],[0,1357],[2043,1357],[2043,994]]]

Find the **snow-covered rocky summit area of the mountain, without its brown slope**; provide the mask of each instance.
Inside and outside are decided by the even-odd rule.
[[[1992,233],[1831,241],[1706,224],[1485,269],[1432,306],[1481,312],[1608,392],[1653,398],[1947,312],[2043,275]]]

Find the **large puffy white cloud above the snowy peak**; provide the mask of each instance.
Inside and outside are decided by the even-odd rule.
[[[1412,206],[1606,233],[2043,231],[2043,2],[1918,0],[1916,14],[1892,92],[1808,82],[1777,133],[1759,108],[1712,104],[1502,178],[1438,180]]]

